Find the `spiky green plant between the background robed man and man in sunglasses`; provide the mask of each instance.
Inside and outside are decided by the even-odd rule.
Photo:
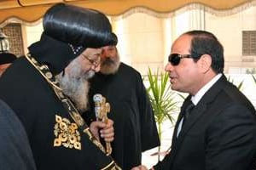
[[[160,141],[162,137],[162,123],[169,120],[173,124],[175,120],[172,114],[177,111],[175,93],[172,91],[168,80],[168,73],[157,71],[155,74],[152,74],[152,71],[148,68],[149,87],[147,91],[153,107],[155,122],[158,126]],[[160,146],[158,148],[158,159],[160,160]]]

